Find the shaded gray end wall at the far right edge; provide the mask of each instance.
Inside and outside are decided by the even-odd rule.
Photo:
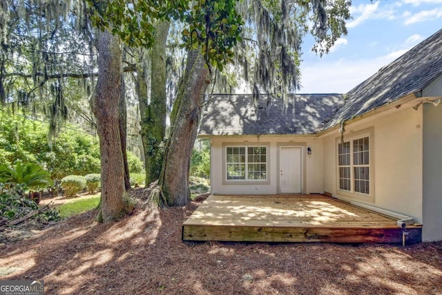
[[[442,77],[423,96],[441,96]],[[423,104],[423,233],[424,241],[442,240],[442,103]]]

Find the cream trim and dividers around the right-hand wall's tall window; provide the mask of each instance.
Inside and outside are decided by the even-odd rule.
[[[369,140],[369,193],[359,193],[354,191],[354,167],[367,166],[354,163],[354,151],[353,141],[364,137],[368,137]],[[350,142],[350,191],[340,189],[339,183],[339,144],[341,143],[340,137],[336,138],[336,191],[339,196],[363,200],[367,202],[374,202],[374,129],[365,129],[363,131],[352,133],[351,135],[344,135],[343,142]],[[347,165],[343,165],[347,166]]]

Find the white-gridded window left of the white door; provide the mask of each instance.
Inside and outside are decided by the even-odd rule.
[[[267,146],[227,146],[227,180],[267,180]]]

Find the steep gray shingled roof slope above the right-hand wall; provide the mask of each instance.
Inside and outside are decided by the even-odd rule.
[[[327,120],[323,130],[422,91],[441,74],[442,30],[439,30],[349,91],[345,104]]]

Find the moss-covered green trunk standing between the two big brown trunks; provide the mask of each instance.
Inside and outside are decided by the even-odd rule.
[[[155,41],[151,49],[151,102],[148,103],[147,85],[140,85],[141,135],[144,146],[146,184],[160,177],[166,132],[166,39],[169,22],[155,24]],[[138,76],[146,84],[146,73]]]

